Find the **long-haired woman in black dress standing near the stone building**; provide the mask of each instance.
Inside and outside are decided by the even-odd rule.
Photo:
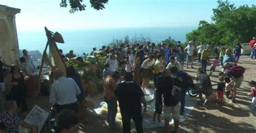
[[[18,106],[22,106],[22,112],[28,111],[25,80],[29,80],[29,77],[19,71],[17,65],[11,65],[11,74],[9,75],[10,98],[14,99]]]

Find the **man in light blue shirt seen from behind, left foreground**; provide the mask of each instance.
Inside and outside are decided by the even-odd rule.
[[[63,109],[70,109],[77,113],[77,97],[80,94],[80,88],[72,78],[65,78],[60,69],[53,71],[53,78],[56,80],[51,85],[50,102],[56,105],[56,111],[59,113]]]

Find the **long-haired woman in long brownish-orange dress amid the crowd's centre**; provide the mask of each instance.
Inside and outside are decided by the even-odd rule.
[[[136,81],[138,84],[142,84],[140,80],[139,70],[140,70],[140,59],[139,59],[139,51],[137,51],[134,55],[134,62],[133,62],[133,80]]]

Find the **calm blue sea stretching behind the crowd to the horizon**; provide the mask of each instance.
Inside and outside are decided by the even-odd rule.
[[[62,34],[65,43],[58,43],[58,48],[64,53],[73,49],[75,54],[90,53],[93,47],[99,48],[113,42],[113,39],[123,39],[126,35],[141,34],[150,38],[153,42],[160,42],[169,36],[175,40],[184,42],[186,34],[196,27],[165,27],[165,28],[116,28],[116,29],[86,29],[83,31],[58,31]],[[53,31],[55,32],[55,31]],[[46,44],[46,36],[42,31],[18,31],[19,49],[43,51]]]

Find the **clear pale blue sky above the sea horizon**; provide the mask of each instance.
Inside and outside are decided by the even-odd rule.
[[[0,4],[21,9],[16,15],[19,31],[47,26],[50,29],[197,26],[211,22],[217,0],[109,0],[106,9],[96,11],[84,0],[86,10],[69,13],[60,0],[0,0]],[[256,0],[230,0],[239,5],[256,5]]]

